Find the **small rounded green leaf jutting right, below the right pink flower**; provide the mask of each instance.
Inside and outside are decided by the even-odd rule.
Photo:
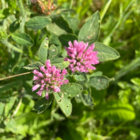
[[[102,90],[108,87],[109,79],[105,76],[91,77],[89,81],[89,86],[94,87],[97,90]]]

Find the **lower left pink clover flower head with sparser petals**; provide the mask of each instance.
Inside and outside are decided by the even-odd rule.
[[[40,66],[39,70],[33,70],[33,74],[35,85],[32,87],[32,91],[39,89],[36,93],[41,96],[45,90],[47,100],[49,99],[49,91],[60,92],[61,85],[69,82],[67,79],[64,79],[67,70],[63,69],[61,71],[55,66],[51,66],[50,60],[46,61],[46,68],[45,66]]]

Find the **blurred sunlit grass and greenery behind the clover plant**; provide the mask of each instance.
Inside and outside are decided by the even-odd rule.
[[[28,0],[25,0],[28,8]],[[13,14],[18,7],[14,0],[7,4],[5,13]],[[98,71],[112,78],[105,90],[92,89],[94,107],[73,102],[73,112],[65,117],[55,102],[42,114],[32,110],[37,99],[31,92],[32,76],[21,76],[0,81],[0,139],[1,140],[139,140],[140,139],[140,1],[139,0],[57,0],[55,5],[75,10],[70,15],[79,19],[79,28],[99,10],[101,14],[100,42],[117,49],[118,60],[100,63]],[[7,15],[8,15],[7,14]],[[17,12],[18,14],[18,12]],[[0,10],[0,24],[3,19]],[[18,16],[18,15],[17,15]],[[7,17],[4,28],[11,24]],[[2,32],[2,28],[0,29]],[[31,34],[31,33],[30,33]],[[36,42],[36,44],[39,42]],[[37,48],[20,55],[0,43],[0,77],[14,75],[27,59],[37,59]],[[19,65],[20,63],[20,65]],[[22,65],[23,64],[23,65]],[[28,82],[24,83],[24,79]],[[24,85],[23,85],[24,84]],[[24,88],[23,88],[24,87]],[[121,102],[120,102],[121,101]],[[4,114],[3,114],[4,113]],[[9,121],[10,120],[10,121]]]

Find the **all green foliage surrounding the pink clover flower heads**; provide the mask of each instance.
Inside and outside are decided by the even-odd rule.
[[[53,2],[41,15],[30,0],[0,1],[0,139],[139,140],[140,2]],[[74,40],[95,43],[96,70],[68,71],[60,93],[38,97],[28,71],[46,59],[67,69],[64,47]]]

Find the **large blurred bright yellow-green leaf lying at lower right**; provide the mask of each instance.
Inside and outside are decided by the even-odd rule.
[[[94,108],[94,113],[99,118],[112,120],[131,121],[135,119],[135,111],[130,104],[114,100],[106,104],[99,104]]]

